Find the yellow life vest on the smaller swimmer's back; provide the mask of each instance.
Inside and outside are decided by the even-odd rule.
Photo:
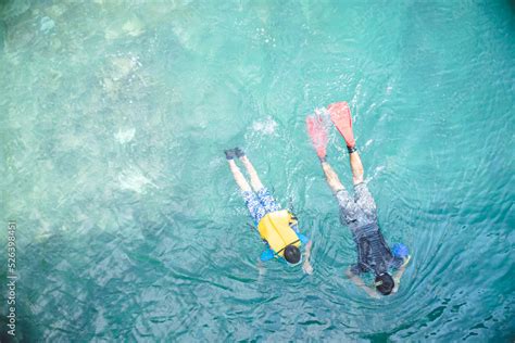
[[[281,209],[268,213],[258,225],[262,239],[268,242],[271,249],[284,257],[284,250],[288,245],[300,246],[301,242],[290,225],[297,224],[297,218],[288,211]]]

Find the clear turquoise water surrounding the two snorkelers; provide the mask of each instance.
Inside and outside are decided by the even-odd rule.
[[[510,2],[0,13],[0,214],[18,226],[20,340],[513,340]],[[307,113],[341,100],[387,240],[413,253],[381,301],[343,278],[353,242],[305,135]],[[222,154],[235,145],[294,205],[313,276],[278,263],[259,276],[262,245]],[[336,137],[329,161],[350,187]],[[2,282],[2,312],[4,294]]]

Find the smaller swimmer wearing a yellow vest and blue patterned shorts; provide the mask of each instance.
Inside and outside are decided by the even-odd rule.
[[[225,156],[254,219],[258,232],[267,245],[260,256],[260,262],[278,258],[289,265],[299,265],[302,263],[299,247],[305,244],[302,269],[306,274],[312,274],[313,267],[310,264],[312,241],[299,231],[297,217],[287,209],[280,209],[271,192],[261,183],[258,173],[241,149],[226,150]],[[250,185],[236,165],[236,158],[239,158],[247,169]]]

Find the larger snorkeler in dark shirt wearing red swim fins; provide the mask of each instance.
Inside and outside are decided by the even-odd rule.
[[[334,103],[327,107],[327,112],[329,115],[316,113],[307,116],[306,125],[327,185],[338,201],[340,221],[350,228],[356,244],[357,263],[347,270],[347,276],[372,297],[378,298],[379,294],[397,293],[401,277],[411,258],[407,247],[398,243],[390,249],[382,237],[377,220],[376,203],[363,181],[363,164],[355,147],[349,105],[347,102]],[[349,195],[338,175],[326,161],[328,117],[347,143],[354,185],[353,198]],[[393,277],[390,275],[390,269],[395,270]],[[360,277],[365,272],[372,272],[375,276],[375,288],[368,287]]]

